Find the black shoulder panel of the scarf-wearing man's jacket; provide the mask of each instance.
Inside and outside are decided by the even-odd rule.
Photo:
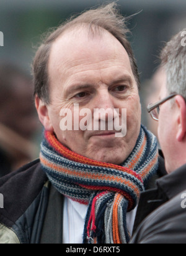
[[[0,209],[0,222],[12,227],[47,182],[40,160],[36,159],[22,168],[0,179],[0,193],[4,197],[4,208]]]

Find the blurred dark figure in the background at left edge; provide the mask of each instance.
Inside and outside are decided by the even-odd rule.
[[[39,127],[32,80],[9,62],[0,64],[0,177],[35,159],[32,142]]]

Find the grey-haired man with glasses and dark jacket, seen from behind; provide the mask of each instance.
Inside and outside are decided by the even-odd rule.
[[[157,189],[149,194],[146,191],[144,194],[151,205],[157,201],[166,203],[144,220],[131,243],[185,244],[186,241],[186,47],[182,44],[184,31],[174,36],[162,50],[161,66],[166,79],[162,81],[160,101],[148,107],[153,118],[159,120],[159,142],[169,175],[157,180]],[[144,195],[141,196],[143,199]]]

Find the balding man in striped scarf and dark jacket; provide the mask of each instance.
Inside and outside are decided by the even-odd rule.
[[[4,183],[11,186],[1,211],[2,239],[130,240],[139,194],[164,174],[164,164],[155,136],[141,126],[139,77],[126,32],[123,17],[108,4],[66,22],[38,49],[35,105],[45,128],[40,160],[1,181],[1,194]],[[21,198],[16,206],[8,202],[12,191]]]

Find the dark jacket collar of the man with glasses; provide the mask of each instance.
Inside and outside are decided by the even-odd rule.
[[[156,181],[157,187],[171,199],[186,187],[186,164]]]

